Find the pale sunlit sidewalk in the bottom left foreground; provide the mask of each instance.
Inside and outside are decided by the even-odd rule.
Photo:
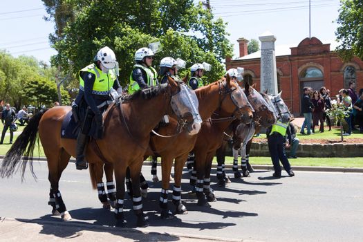
[[[170,234],[151,232],[147,229],[105,227],[73,222],[51,222],[38,219],[0,218],[0,242],[8,241],[180,241],[218,242],[242,241],[190,234]],[[245,241],[245,240],[244,240]]]

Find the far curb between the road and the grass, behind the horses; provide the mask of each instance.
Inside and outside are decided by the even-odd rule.
[[[0,159],[3,159],[4,156],[0,156]],[[45,157],[34,157],[33,160],[41,160],[46,161]],[[75,158],[71,158],[70,162],[75,162]],[[143,165],[151,165],[150,161],[145,161]],[[226,164],[225,168],[232,169],[232,164]],[[216,164],[212,164],[213,168],[216,168]],[[263,169],[263,170],[274,170],[272,165],[253,165],[254,169]],[[344,172],[344,173],[363,173],[363,168],[360,167],[304,167],[304,166],[292,166],[292,169],[295,171],[321,171],[321,172]]]

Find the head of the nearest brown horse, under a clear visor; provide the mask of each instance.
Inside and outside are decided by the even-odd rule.
[[[168,82],[172,91],[170,105],[178,117],[178,122],[186,127],[189,135],[198,133],[201,130],[203,120],[199,115],[196,93],[189,89],[185,82],[175,81],[169,76]],[[175,87],[178,88],[177,91]]]

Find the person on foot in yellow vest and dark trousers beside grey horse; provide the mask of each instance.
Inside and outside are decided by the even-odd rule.
[[[279,161],[281,161],[283,169],[286,170],[289,176],[295,176],[283,149],[287,129],[288,122],[283,123],[281,120],[277,120],[275,124],[272,124],[272,126],[266,130],[268,137],[268,150],[270,151],[272,165],[274,166],[274,174],[272,176],[276,178],[281,177],[281,166]]]

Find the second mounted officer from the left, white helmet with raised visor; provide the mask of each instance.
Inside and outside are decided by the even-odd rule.
[[[158,84],[158,73],[151,66],[153,56],[153,51],[147,47],[136,51],[134,58],[136,64],[130,75],[129,94]]]

